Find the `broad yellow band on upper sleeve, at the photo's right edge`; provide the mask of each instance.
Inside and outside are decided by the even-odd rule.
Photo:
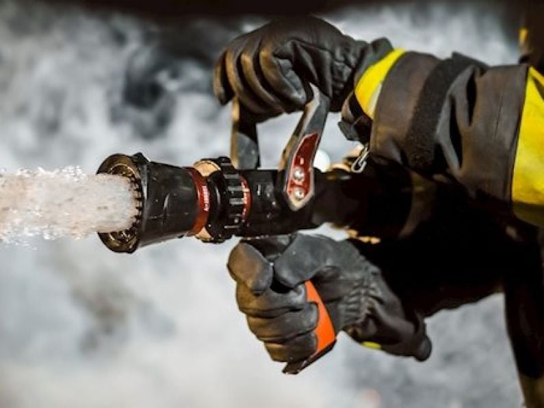
[[[512,203],[518,218],[544,227],[544,77],[534,68],[529,68],[521,114]]]

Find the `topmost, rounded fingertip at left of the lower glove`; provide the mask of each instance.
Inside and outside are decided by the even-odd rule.
[[[245,285],[253,294],[263,293],[272,283],[272,264],[250,244],[240,242],[229,255],[226,267],[239,285]]]

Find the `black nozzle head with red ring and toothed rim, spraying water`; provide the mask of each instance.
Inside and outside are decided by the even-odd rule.
[[[250,191],[228,157],[194,167],[150,162],[137,153],[112,155],[97,173],[130,179],[138,214],[124,231],[99,233],[112,251],[132,253],[155,242],[195,235],[223,242],[237,235],[250,210]]]

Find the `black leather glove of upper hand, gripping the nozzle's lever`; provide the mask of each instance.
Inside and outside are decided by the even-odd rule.
[[[312,83],[338,112],[361,73],[389,51],[385,39],[357,41],[319,18],[274,21],[233,40],[216,62],[221,103],[238,97],[257,120],[300,110]]]

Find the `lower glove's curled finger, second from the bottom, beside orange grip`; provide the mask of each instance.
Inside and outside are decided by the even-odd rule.
[[[263,342],[285,342],[308,333],[318,324],[318,307],[307,303],[304,309],[288,311],[276,318],[248,316],[249,329]]]

